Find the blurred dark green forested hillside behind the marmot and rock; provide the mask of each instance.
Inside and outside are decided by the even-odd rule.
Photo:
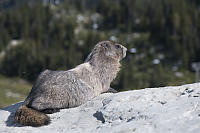
[[[0,0],[0,107],[23,100],[41,71],[82,63],[102,40],[128,48],[118,91],[193,83],[199,36],[199,0]]]

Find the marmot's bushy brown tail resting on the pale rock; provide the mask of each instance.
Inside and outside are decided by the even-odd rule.
[[[24,126],[43,126],[50,123],[50,118],[37,110],[22,105],[15,113],[15,122],[18,122]]]

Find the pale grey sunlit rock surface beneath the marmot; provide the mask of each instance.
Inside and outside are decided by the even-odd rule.
[[[200,83],[102,94],[49,115],[51,124],[37,128],[13,122],[21,104],[0,110],[0,133],[200,132]]]

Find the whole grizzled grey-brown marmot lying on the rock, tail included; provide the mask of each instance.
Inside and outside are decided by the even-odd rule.
[[[102,41],[83,64],[68,71],[43,71],[16,111],[15,122],[26,126],[47,125],[50,118],[46,114],[77,107],[107,91],[126,50],[121,44]]]

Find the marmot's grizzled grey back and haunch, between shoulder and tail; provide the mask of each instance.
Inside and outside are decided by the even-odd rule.
[[[76,107],[94,97],[91,87],[73,71],[48,70],[38,78],[41,80],[25,100],[28,107],[36,110]]]

